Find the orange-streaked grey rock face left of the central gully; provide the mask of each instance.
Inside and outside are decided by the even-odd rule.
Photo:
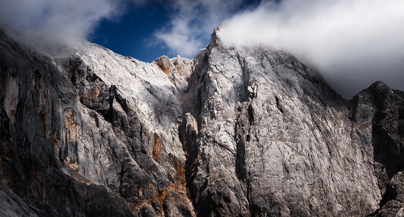
[[[179,91],[157,64],[86,40],[45,52],[0,31],[2,183],[39,216],[151,216],[172,191],[193,213]]]

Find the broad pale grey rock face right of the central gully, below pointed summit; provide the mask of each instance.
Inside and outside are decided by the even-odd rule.
[[[386,181],[403,170],[402,92],[377,82],[346,101],[287,53],[219,37],[194,59],[200,157],[189,183],[199,215],[365,216],[379,208]],[[364,92],[369,99],[358,101]]]

